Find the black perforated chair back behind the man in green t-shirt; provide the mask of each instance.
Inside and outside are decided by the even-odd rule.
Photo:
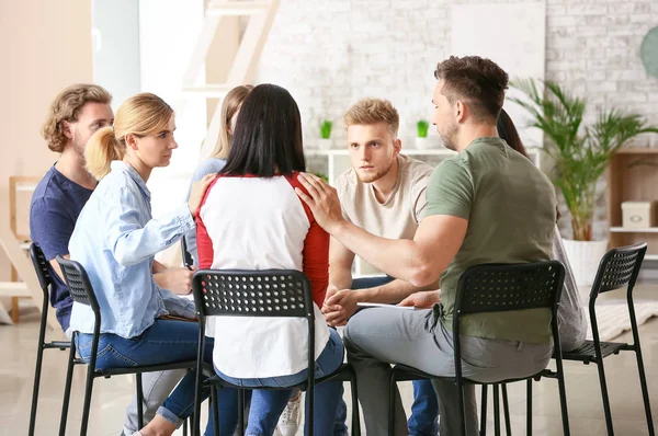
[[[560,297],[565,267],[558,261],[484,264],[467,268],[457,284],[461,315],[524,309],[553,309]]]

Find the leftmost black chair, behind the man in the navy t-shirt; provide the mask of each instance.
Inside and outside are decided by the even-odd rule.
[[[46,342],[46,326],[48,323],[48,301],[50,299],[50,285],[53,284],[53,277],[48,271],[48,261],[42,250],[35,244],[30,244],[30,257],[34,265],[36,278],[44,294],[42,301],[42,319],[38,328],[38,346],[36,348],[36,368],[34,370],[34,389],[32,391],[32,410],[30,412],[30,429],[27,431],[29,436],[34,436],[34,428],[36,425],[36,405],[38,402],[38,388],[41,383],[41,371],[44,359],[44,349],[61,349],[65,351],[70,348],[71,344],[68,341],[53,341]],[[75,362],[73,364],[78,364]],[[65,418],[65,417],[63,417]]]

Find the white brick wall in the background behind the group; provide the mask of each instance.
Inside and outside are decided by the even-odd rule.
[[[325,118],[343,138],[343,112],[367,95],[394,102],[400,136],[412,147],[416,122],[431,116],[434,67],[450,56],[450,7],[480,2],[282,0],[258,81],[291,91],[307,144]],[[547,0],[546,14],[546,79],[586,95],[588,121],[597,108],[616,106],[658,125],[658,79],[639,60],[643,36],[658,25],[658,0]],[[605,232],[603,206],[598,237]]]

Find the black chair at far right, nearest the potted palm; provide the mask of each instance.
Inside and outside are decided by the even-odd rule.
[[[642,358],[642,348],[639,346],[639,334],[637,331],[637,320],[635,318],[635,307],[633,306],[633,288],[639,274],[642,262],[647,252],[647,244],[638,243],[629,246],[612,249],[599,264],[597,276],[592,285],[589,298],[589,312],[592,325],[593,341],[586,343],[578,349],[565,353],[563,359],[578,360],[586,365],[597,364],[599,369],[599,382],[601,385],[601,399],[603,401],[603,411],[605,412],[605,425],[608,434],[613,435],[612,414],[610,411],[610,401],[608,397],[608,386],[605,383],[605,371],[603,370],[603,359],[610,355],[620,352],[635,352],[637,358],[637,371],[639,372],[639,385],[644,400],[647,427],[649,435],[654,436],[654,421],[651,418],[651,406],[649,404],[649,391],[647,388],[647,378],[644,370],[644,360]],[[597,298],[600,294],[614,289],[621,289],[627,286],[626,301],[628,303],[628,314],[631,318],[631,328],[633,330],[633,344],[622,342],[601,342],[599,337],[599,324],[597,322],[597,312],[594,310]]]

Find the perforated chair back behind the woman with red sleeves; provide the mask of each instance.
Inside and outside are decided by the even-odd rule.
[[[313,322],[310,283],[293,269],[215,271],[194,274],[192,289],[203,317],[296,317]]]

